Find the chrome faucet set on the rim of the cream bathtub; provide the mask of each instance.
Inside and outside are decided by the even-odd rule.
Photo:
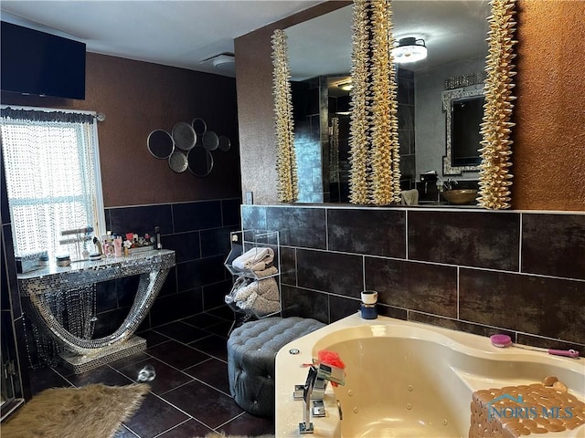
[[[311,405],[313,401],[313,416],[324,417],[324,392],[327,381],[333,381],[339,385],[346,384],[346,374],[341,368],[319,363],[309,368],[307,380],[303,388],[303,422],[299,422],[299,433],[314,433],[313,422],[311,422]]]

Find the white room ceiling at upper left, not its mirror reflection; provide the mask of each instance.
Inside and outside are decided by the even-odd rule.
[[[234,76],[234,38],[323,0],[1,0],[0,17],[93,53]],[[221,61],[228,61],[222,63]]]

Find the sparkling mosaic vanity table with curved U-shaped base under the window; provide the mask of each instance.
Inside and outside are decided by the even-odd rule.
[[[78,373],[146,349],[146,341],[133,336],[133,333],[148,314],[170,268],[175,264],[175,251],[151,250],[98,261],[82,261],[66,267],[48,266],[21,274],[17,276],[17,281],[25,315],[42,336],[53,339],[61,347],[63,364]],[[62,295],[64,298],[58,302],[64,303],[65,307],[70,306],[60,311],[67,310],[69,318],[79,318],[75,324],[69,320],[69,327],[87,326],[95,320],[95,315],[93,306],[79,303],[80,297],[90,296],[84,291],[94,288],[96,283],[124,276],[139,276],[138,289],[128,315],[111,335],[90,339],[90,336],[84,335],[88,330],[72,333],[59,322],[59,310],[53,304],[55,296]],[[69,297],[73,298],[69,300]]]

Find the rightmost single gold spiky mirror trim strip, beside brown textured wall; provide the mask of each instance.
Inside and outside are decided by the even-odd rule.
[[[515,123],[511,121],[514,109],[512,94],[516,67],[516,0],[492,0],[489,17],[489,51],[485,71],[484,122],[481,124],[483,148],[480,164],[478,204],[492,210],[510,208],[509,172],[512,166],[510,135]]]

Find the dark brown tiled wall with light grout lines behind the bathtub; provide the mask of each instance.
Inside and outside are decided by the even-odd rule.
[[[379,311],[585,352],[585,212],[242,205],[281,232],[284,316],[333,322],[378,290]]]

